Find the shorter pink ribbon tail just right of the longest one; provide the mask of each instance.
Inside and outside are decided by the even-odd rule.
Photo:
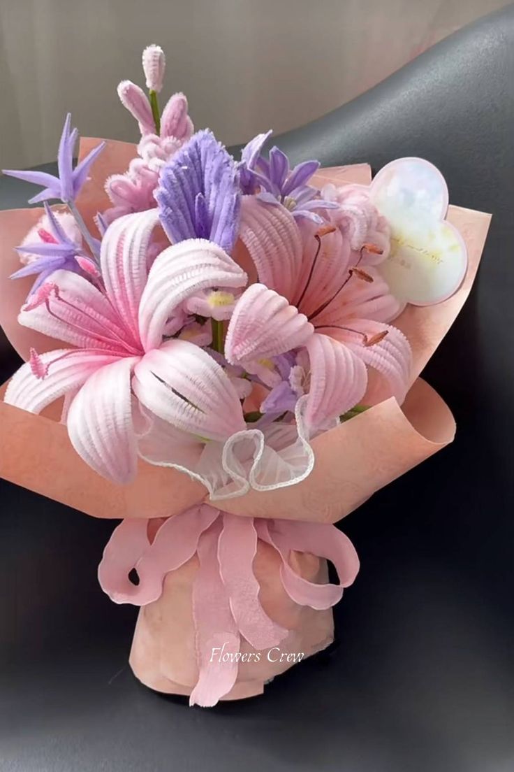
[[[218,542],[221,578],[230,597],[230,610],[237,629],[260,651],[276,646],[288,631],[270,619],[260,605],[260,585],[252,570],[256,554],[254,520],[225,513]]]

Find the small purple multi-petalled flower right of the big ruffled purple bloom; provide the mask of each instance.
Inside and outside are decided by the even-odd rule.
[[[257,198],[267,204],[284,205],[293,217],[304,217],[322,225],[324,221],[315,210],[338,208],[338,204],[318,198],[320,191],[307,185],[318,170],[319,161],[304,161],[291,169],[287,155],[278,147],[271,148],[266,160],[260,152],[270,134],[271,131],[257,134],[241,151],[238,164],[241,190],[245,194],[257,193]]]

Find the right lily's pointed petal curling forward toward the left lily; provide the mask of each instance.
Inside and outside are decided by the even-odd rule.
[[[303,346],[313,332],[307,317],[285,297],[263,284],[252,284],[233,310],[225,356],[231,364],[274,357]]]

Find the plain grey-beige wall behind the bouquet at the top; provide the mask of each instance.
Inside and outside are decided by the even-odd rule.
[[[0,0],[0,168],[55,158],[63,118],[136,140],[116,96],[159,43],[166,94],[226,144],[306,123],[505,0]]]

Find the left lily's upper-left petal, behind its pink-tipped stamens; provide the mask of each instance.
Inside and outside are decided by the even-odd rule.
[[[116,340],[119,345],[126,341],[113,306],[91,282],[78,273],[59,270],[52,273],[51,283],[57,289],[49,294],[49,308],[45,303],[31,310],[22,306],[20,324],[78,348],[117,350]]]

